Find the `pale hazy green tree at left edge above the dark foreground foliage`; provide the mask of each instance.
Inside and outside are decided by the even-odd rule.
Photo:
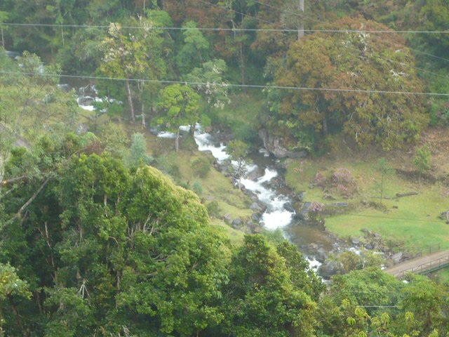
[[[43,135],[63,138],[74,128],[77,107],[72,93],[65,93],[55,86],[59,78],[46,76],[58,74],[58,65],[44,67],[37,55],[24,52],[19,59],[22,67],[19,67],[3,50],[0,50],[0,61],[1,70],[29,73],[0,76],[1,199],[6,165],[13,148],[31,147]]]

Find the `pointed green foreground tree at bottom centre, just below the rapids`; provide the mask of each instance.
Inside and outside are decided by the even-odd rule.
[[[300,253],[290,265],[261,235],[247,235],[230,265],[222,326],[225,336],[314,336],[314,280],[304,271]],[[300,263],[299,267],[296,263]],[[311,295],[309,295],[311,294]]]

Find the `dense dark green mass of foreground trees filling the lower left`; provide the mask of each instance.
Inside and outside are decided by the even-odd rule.
[[[0,258],[16,270],[6,265],[1,275],[6,282],[22,279],[20,289],[6,284],[1,293],[8,298],[0,311],[8,336],[118,336],[125,330],[134,336],[197,336],[209,329],[220,336],[233,333],[236,322],[241,331],[252,331],[260,305],[267,305],[260,322],[272,319],[260,336],[313,331],[312,298],[322,287],[304,271],[307,263],[294,246],[276,251],[264,237],[248,237],[231,253],[199,199],[156,169],[142,166],[131,174],[109,154],[77,154],[81,143],[74,137],[43,146],[46,154],[34,158],[37,166],[48,156],[72,156],[48,178],[30,177],[2,199]],[[15,152],[11,163],[17,167],[8,166],[8,174],[30,155]],[[251,254],[255,260],[247,260]],[[272,303],[275,298],[279,304]],[[236,303],[243,305],[241,318],[227,315]]]

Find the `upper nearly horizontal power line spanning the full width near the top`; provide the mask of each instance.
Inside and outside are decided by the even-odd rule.
[[[200,0],[197,0],[200,1]],[[203,1],[204,2],[204,1]],[[251,16],[245,14],[247,16]],[[254,16],[251,16],[255,18]],[[261,19],[260,19],[261,20]],[[265,20],[264,20],[265,21]],[[266,21],[266,23],[277,25],[275,22]],[[57,28],[100,28],[107,29],[109,25],[58,25],[55,23],[18,23],[18,22],[2,22],[1,26],[10,27],[57,27]],[[161,29],[161,30],[203,30],[203,31],[229,31],[229,32],[294,32],[297,29],[290,28],[220,28],[220,27],[158,27],[158,26],[121,26],[123,29]],[[379,30],[379,29],[304,29],[307,33],[363,33],[363,34],[449,34],[445,31],[431,31],[431,30]]]

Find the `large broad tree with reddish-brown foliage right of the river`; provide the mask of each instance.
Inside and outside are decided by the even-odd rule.
[[[366,30],[387,29],[361,18],[344,18],[333,29],[361,25]],[[295,139],[304,131],[313,131],[321,139],[342,131],[361,147],[377,143],[384,150],[413,144],[429,121],[422,96],[321,91],[424,91],[413,65],[413,55],[394,34],[382,39],[365,33],[312,34],[295,41],[286,65],[276,74],[276,84],[320,90],[283,93],[281,102],[273,105],[279,125],[274,127]]]

